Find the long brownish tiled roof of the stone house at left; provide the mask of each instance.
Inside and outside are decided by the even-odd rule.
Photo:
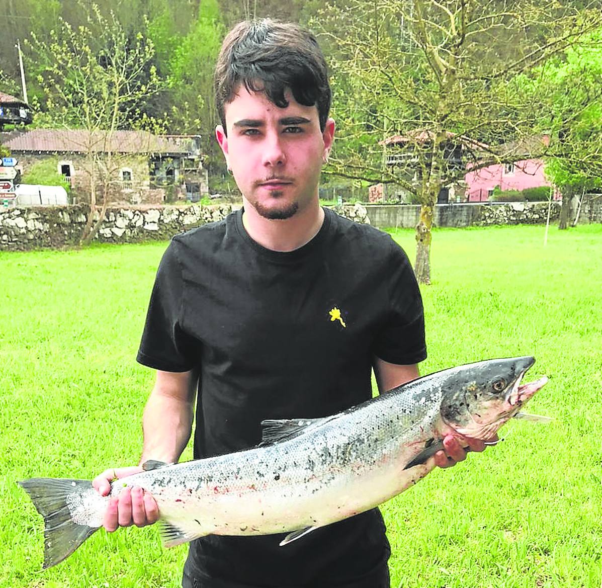
[[[82,129],[34,129],[6,141],[11,151],[39,153],[188,153],[186,146],[146,131],[89,132]]]

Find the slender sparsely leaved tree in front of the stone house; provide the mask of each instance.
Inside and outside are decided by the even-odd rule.
[[[90,186],[90,215],[82,243],[89,243],[110,200],[111,173],[119,159],[116,132],[131,128],[141,102],[157,92],[161,82],[152,64],[152,43],[141,33],[128,36],[112,12],[105,18],[96,4],[81,7],[87,14],[85,25],[73,28],[60,19],[50,42],[34,34],[31,48],[49,64],[39,82],[53,122],[85,131],[79,137]]]

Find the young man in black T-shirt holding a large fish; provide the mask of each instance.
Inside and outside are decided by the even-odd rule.
[[[216,66],[216,129],[243,209],[173,238],[157,273],[138,361],[157,370],[144,409],[147,459],[176,462],[252,447],[260,422],[326,416],[418,376],[426,357],[420,292],[386,234],[318,201],[332,147],[326,64],[297,25],[244,22]],[[198,390],[198,395],[197,395]],[[465,457],[452,437],[441,466]],[[480,442],[470,448],[482,450]],[[94,483],[140,467],[108,469]],[[157,504],[140,489],[110,501],[104,525],[143,526]],[[182,586],[389,586],[377,509],[285,547],[282,536],[208,536],[190,545]]]

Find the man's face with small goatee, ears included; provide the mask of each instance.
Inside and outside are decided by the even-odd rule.
[[[290,218],[318,202],[318,180],[332,137],[334,120],[320,131],[318,109],[295,101],[272,104],[262,92],[244,86],[225,105],[228,136],[220,125],[217,141],[250,205],[264,218]]]

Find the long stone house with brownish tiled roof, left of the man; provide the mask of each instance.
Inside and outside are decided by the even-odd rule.
[[[73,203],[90,199],[91,170],[97,200],[106,189],[111,203],[157,204],[208,194],[198,135],[34,129],[12,132],[4,144],[22,175],[50,161],[71,185]]]

